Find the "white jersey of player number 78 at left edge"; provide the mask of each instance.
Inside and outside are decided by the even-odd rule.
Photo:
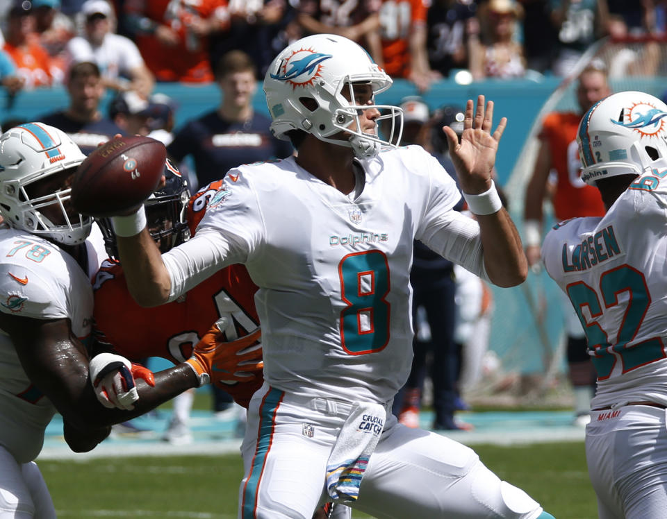
[[[97,226],[86,241],[88,272],[51,241],[0,227],[0,311],[36,319],[69,318],[85,341],[92,325],[92,276],[106,257]],[[56,409],[24,373],[8,334],[0,330],[0,445],[19,463],[37,457]]]

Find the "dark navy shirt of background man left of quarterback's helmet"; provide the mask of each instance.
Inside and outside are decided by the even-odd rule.
[[[192,155],[197,182],[206,185],[241,164],[290,156],[292,145],[276,139],[269,131],[270,124],[262,114],[233,122],[222,119],[217,111],[209,112],[186,123],[167,146],[167,153],[176,162]]]

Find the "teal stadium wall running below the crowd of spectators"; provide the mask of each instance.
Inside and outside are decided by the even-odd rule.
[[[495,123],[500,117],[507,117],[509,124],[502,137],[502,146],[497,157],[497,170],[500,183],[509,178],[514,162],[525,142],[530,127],[547,97],[560,83],[559,78],[543,78],[536,83],[533,80],[486,80],[483,83],[458,85],[450,80],[436,83],[423,98],[434,110],[445,104],[466,105],[467,99],[477,99],[484,94],[495,102]],[[176,130],[188,119],[213,110],[220,103],[220,90],[215,84],[189,86],[181,83],[157,83],[155,92],[170,96],[178,104],[176,110]],[[394,85],[378,96],[378,102],[398,104],[404,96],[418,94],[415,87],[406,80],[395,80]],[[104,99],[103,109],[110,101],[110,94]],[[31,92],[19,92],[14,99],[8,99],[6,92],[0,92],[0,123],[13,118],[35,120],[36,117],[65,108],[69,102],[65,88],[38,89]],[[261,84],[254,97],[254,107],[258,112],[268,114]],[[7,129],[7,128],[3,128]]]

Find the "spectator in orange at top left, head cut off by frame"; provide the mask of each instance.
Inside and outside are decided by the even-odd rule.
[[[125,22],[158,81],[213,81],[209,37],[229,28],[227,0],[126,0]]]

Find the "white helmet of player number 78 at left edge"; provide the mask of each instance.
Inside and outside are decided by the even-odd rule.
[[[60,171],[73,171],[84,159],[79,146],[53,126],[26,123],[3,133],[0,136],[0,214],[4,221],[57,244],[76,245],[85,241],[92,218],[75,213],[69,207],[72,189],[60,189],[63,187],[60,186],[44,196],[33,198],[30,195],[35,182]],[[44,215],[44,210],[54,206],[60,209],[58,216],[63,215],[58,221]]]

